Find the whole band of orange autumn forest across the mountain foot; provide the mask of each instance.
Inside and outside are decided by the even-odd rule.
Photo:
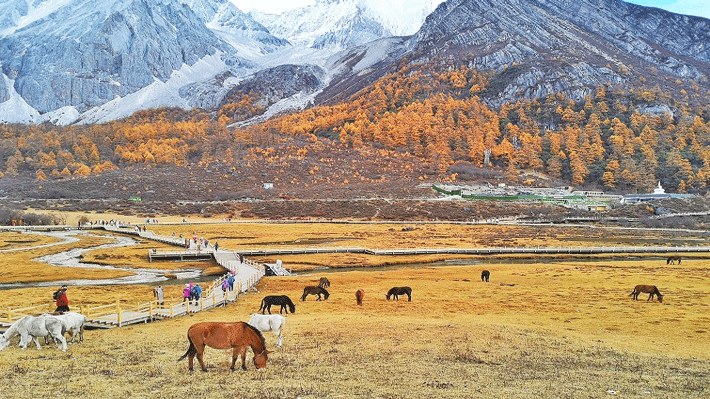
[[[678,79],[669,91],[640,81],[598,87],[581,102],[556,95],[495,109],[479,94],[500,75],[439,70],[402,67],[349,99],[247,128],[228,124],[252,106],[248,98],[214,115],[162,109],[102,125],[2,125],[0,170],[42,180],[136,164],[234,163],[244,154],[273,158],[276,142],[296,140],[408,154],[439,178],[456,179],[453,166],[470,163],[511,180],[534,171],[608,191],[646,192],[658,180],[676,192],[707,189],[710,93],[697,83]],[[294,144],[291,155],[298,151],[308,150]]]

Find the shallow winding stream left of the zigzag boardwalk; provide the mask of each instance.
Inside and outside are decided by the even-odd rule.
[[[79,231],[62,231],[62,232],[51,232],[51,233],[33,233],[33,234],[44,234],[51,235],[53,237],[61,238],[62,241],[50,244],[50,245],[60,245],[65,243],[76,242],[79,239],[75,236],[78,234],[83,234],[86,236],[91,236],[90,233],[79,232]],[[100,237],[106,237],[102,235]],[[69,251],[59,252],[56,254],[50,254],[41,256],[39,258],[34,258],[34,261],[46,263],[48,265],[56,267],[73,267],[80,269],[103,269],[103,270],[122,270],[131,273],[129,276],[118,277],[118,278],[107,278],[107,279],[76,279],[76,280],[55,280],[55,281],[41,281],[41,282],[24,282],[24,283],[4,283],[0,284],[0,289],[8,288],[28,288],[28,287],[53,287],[57,285],[73,285],[73,286],[87,286],[87,285],[120,285],[120,284],[157,284],[166,280],[171,280],[174,282],[182,282],[181,280],[190,280],[191,282],[203,281],[202,270],[200,269],[183,269],[179,271],[175,270],[160,270],[160,269],[143,269],[143,268],[126,268],[111,265],[102,265],[97,263],[87,263],[81,261],[81,256],[89,251],[96,251],[108,248],[117,247],[129,247],[137,245],[139,242],[131,237],[125,237],[121,235],[109,236],[114,239],[115,242],[102,244],[89,248],[74,248]],[[47,245],[42,245],[41,247],[46,247]],[[39,246],[38,246],[39,247]],[[22,248],[18,250],[30,250],[35,247]],[[165,273],[171,273],[177,275],[177,279],[168,279],[165,277]],[[209,278],[208,278],[209,279]]]

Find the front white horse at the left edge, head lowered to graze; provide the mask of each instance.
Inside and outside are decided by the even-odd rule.
[[[42,349],[39,345],[39,337],[50,336],[57,343],[57,348],[67,350],[67,340],[62,335],[62,321],[56,316],[25,316],[14,322],[5,333],[0,336],[0,350],[10,345],[10,340],[20,336],[20,348],[26,349],[31,341],[35,341],[37,349]],[[61,346],[60,346],[61,344]]]

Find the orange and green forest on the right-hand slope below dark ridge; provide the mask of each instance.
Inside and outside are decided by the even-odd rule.
[[[488,76],[466,67],[443,73],[407,68],[350,101],[266,126],[330,135],[352,147],[372,143],[407,151],[442,174],[459,161],[485,166],[490,150],[489,166],[505,168],[510,178],[533,170],[575,186],[625,192],[648,191],[658,180],[678,192],[704,190],[710,105],[702,99],[710,93],[680,79],[673,82],[677,94],[642,83],[630,90],[598,87],[583,102],[556,95],[496,110],[477,96],[490,88]]]

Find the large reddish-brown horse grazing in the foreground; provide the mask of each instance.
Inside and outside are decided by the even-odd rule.
[[[242,321],[236,323],[207,321],[193,324],[187,330],[187,340],[190,341],[190,347],[178,359],[178,362],[189,356],[188,370],[190,371],[192,371],[195,355],[197,355],[202,371],[207,371],[207,367],[205,367],[205,363],[202,360],[205,346],[215,349],[233,348],[231,370],[234,370],[234,364],[240,355],[242,357],[242,370],[247,369],[244,364],[247,356],[247,347],[251,347],[251,350],[254,351],[254,366],[257,369],[266,367],[268,354],[271,353],[266,350],[266,340],[261,332]]]

